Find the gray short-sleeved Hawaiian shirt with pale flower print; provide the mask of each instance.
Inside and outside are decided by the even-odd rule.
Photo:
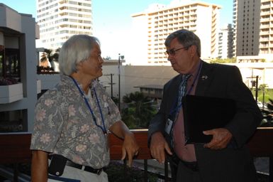
[[[99,82],[94,80],[90,90],[94,92],[86,98],[91,110],[72,78],[61,75],[60,83],[45,92],[35,106],[30,149],[60,154],[93,168],[107,166],[108,140],[101,128],[108,131],[121,115]]]

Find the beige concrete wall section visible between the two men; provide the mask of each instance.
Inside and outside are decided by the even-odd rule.
[[[118,97],[118,65],[104,65],[104,75],[99,78],[106,85],[106,90],[111,95],[111,76],[113,74],[113,97]],[[171,66],[121,66],[121,99],[130,92],[140,91],[140,85],[165,85],[177,75]]]

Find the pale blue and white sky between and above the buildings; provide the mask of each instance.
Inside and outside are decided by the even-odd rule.
[[[102,56],[118,58],[130,50],[131,15],[145,11],[150,4],[170,4],[172,0],[92,0],[94,36],[101,41]],[[181,0],[188,1],[188,0]],[[220,25],[232,23],[233,0],[201,0],[222,6]],[[36,0],[0,0],[22,14],[36,18]],[[136,50],[137,51],[137,50]]]

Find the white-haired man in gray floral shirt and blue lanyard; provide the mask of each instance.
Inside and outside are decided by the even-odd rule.
[[[35,106],[32,181],[48,181],[48,173],[54,179],[108,181],[103,171],[110,160],[108,132],[124,139],[122,159],[127,154],[129,165],[138,145],[118,107],[96,81],[103,63],[98,39],[72,36],[62,46],[59,62],[59,84]]]

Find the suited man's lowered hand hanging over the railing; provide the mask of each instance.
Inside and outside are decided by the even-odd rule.
[[[163,137],[161,132],[155,132],[152,134],[151,143],[150,143],[150,151],[152,157],[155,158],[159,163],[165,163],[165,150],[169,155],[172,155],[171,149],[169,149],[169,145],[167,141]]]

